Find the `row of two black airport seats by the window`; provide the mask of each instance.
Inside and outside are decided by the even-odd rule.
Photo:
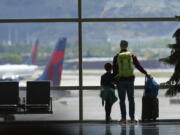
[[[19,96],[19,82],[0,82],[0,114],[52,113],[49,81],[28,81],[26,97]]]

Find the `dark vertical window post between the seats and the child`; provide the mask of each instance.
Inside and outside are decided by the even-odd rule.
[[[78,0],[79,33],[79,120],[83,121],[83,77],[82,77],[82,1]]]

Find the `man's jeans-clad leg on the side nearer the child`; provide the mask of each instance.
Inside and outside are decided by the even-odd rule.
[[[125,83],[123,81],[119,81],[117,83],[117,88],[118,88],[118,96],[120,99],[121,117],[122,117],[122,119],[126,119],[126,105],[125,105],[126,88],[125,88]]]

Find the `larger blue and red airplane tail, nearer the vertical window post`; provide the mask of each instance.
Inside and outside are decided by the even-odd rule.
[[[59,86],[63,70],[66,38],[60,38],[46,65],[43,74],[37,80],[50,80],[53,86]]]

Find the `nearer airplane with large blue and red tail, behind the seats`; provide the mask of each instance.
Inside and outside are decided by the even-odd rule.
[[[60,38],[58,40],[42,75],[37,79],[37,81],[48,80],[50,81],[51,86],[60,86],[66,42],[66,38]],[[52,91],[53,100],[59,100],[60,97],[70,96],[71,94],[71,91]],[[63,99],[60,102],[67,104],[67,99]]]

